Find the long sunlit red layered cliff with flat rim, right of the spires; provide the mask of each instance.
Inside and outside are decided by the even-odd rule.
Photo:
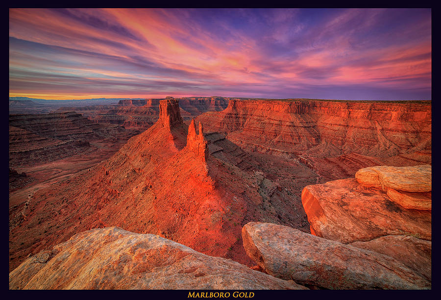
[[[430,101],[232,99],[195,121],[245,149],[296,159],[326,180],[375,164],[431,162]]]

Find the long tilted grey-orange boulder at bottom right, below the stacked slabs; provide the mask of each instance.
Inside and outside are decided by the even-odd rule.
[[[246,224],[246,253],[268,274],[328,289],[427,289],[430,281],[391,256],[290,227]]]

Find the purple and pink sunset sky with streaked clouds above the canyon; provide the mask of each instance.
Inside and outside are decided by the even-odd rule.
[[[9,9],[9,96],[431,100],[430,9]]]

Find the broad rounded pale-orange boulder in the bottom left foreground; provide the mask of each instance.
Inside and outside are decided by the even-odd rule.
[[[28,257],[10,289],[306,289],[238,262],[118,227],[83,231]]]

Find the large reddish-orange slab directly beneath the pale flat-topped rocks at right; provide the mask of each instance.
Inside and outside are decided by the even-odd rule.
[[[411,235],[431,240],[430,210],[402,208],[385,192],[342,179],[307,185],[302,204],[316,235],[352,243],[384,235]]]

